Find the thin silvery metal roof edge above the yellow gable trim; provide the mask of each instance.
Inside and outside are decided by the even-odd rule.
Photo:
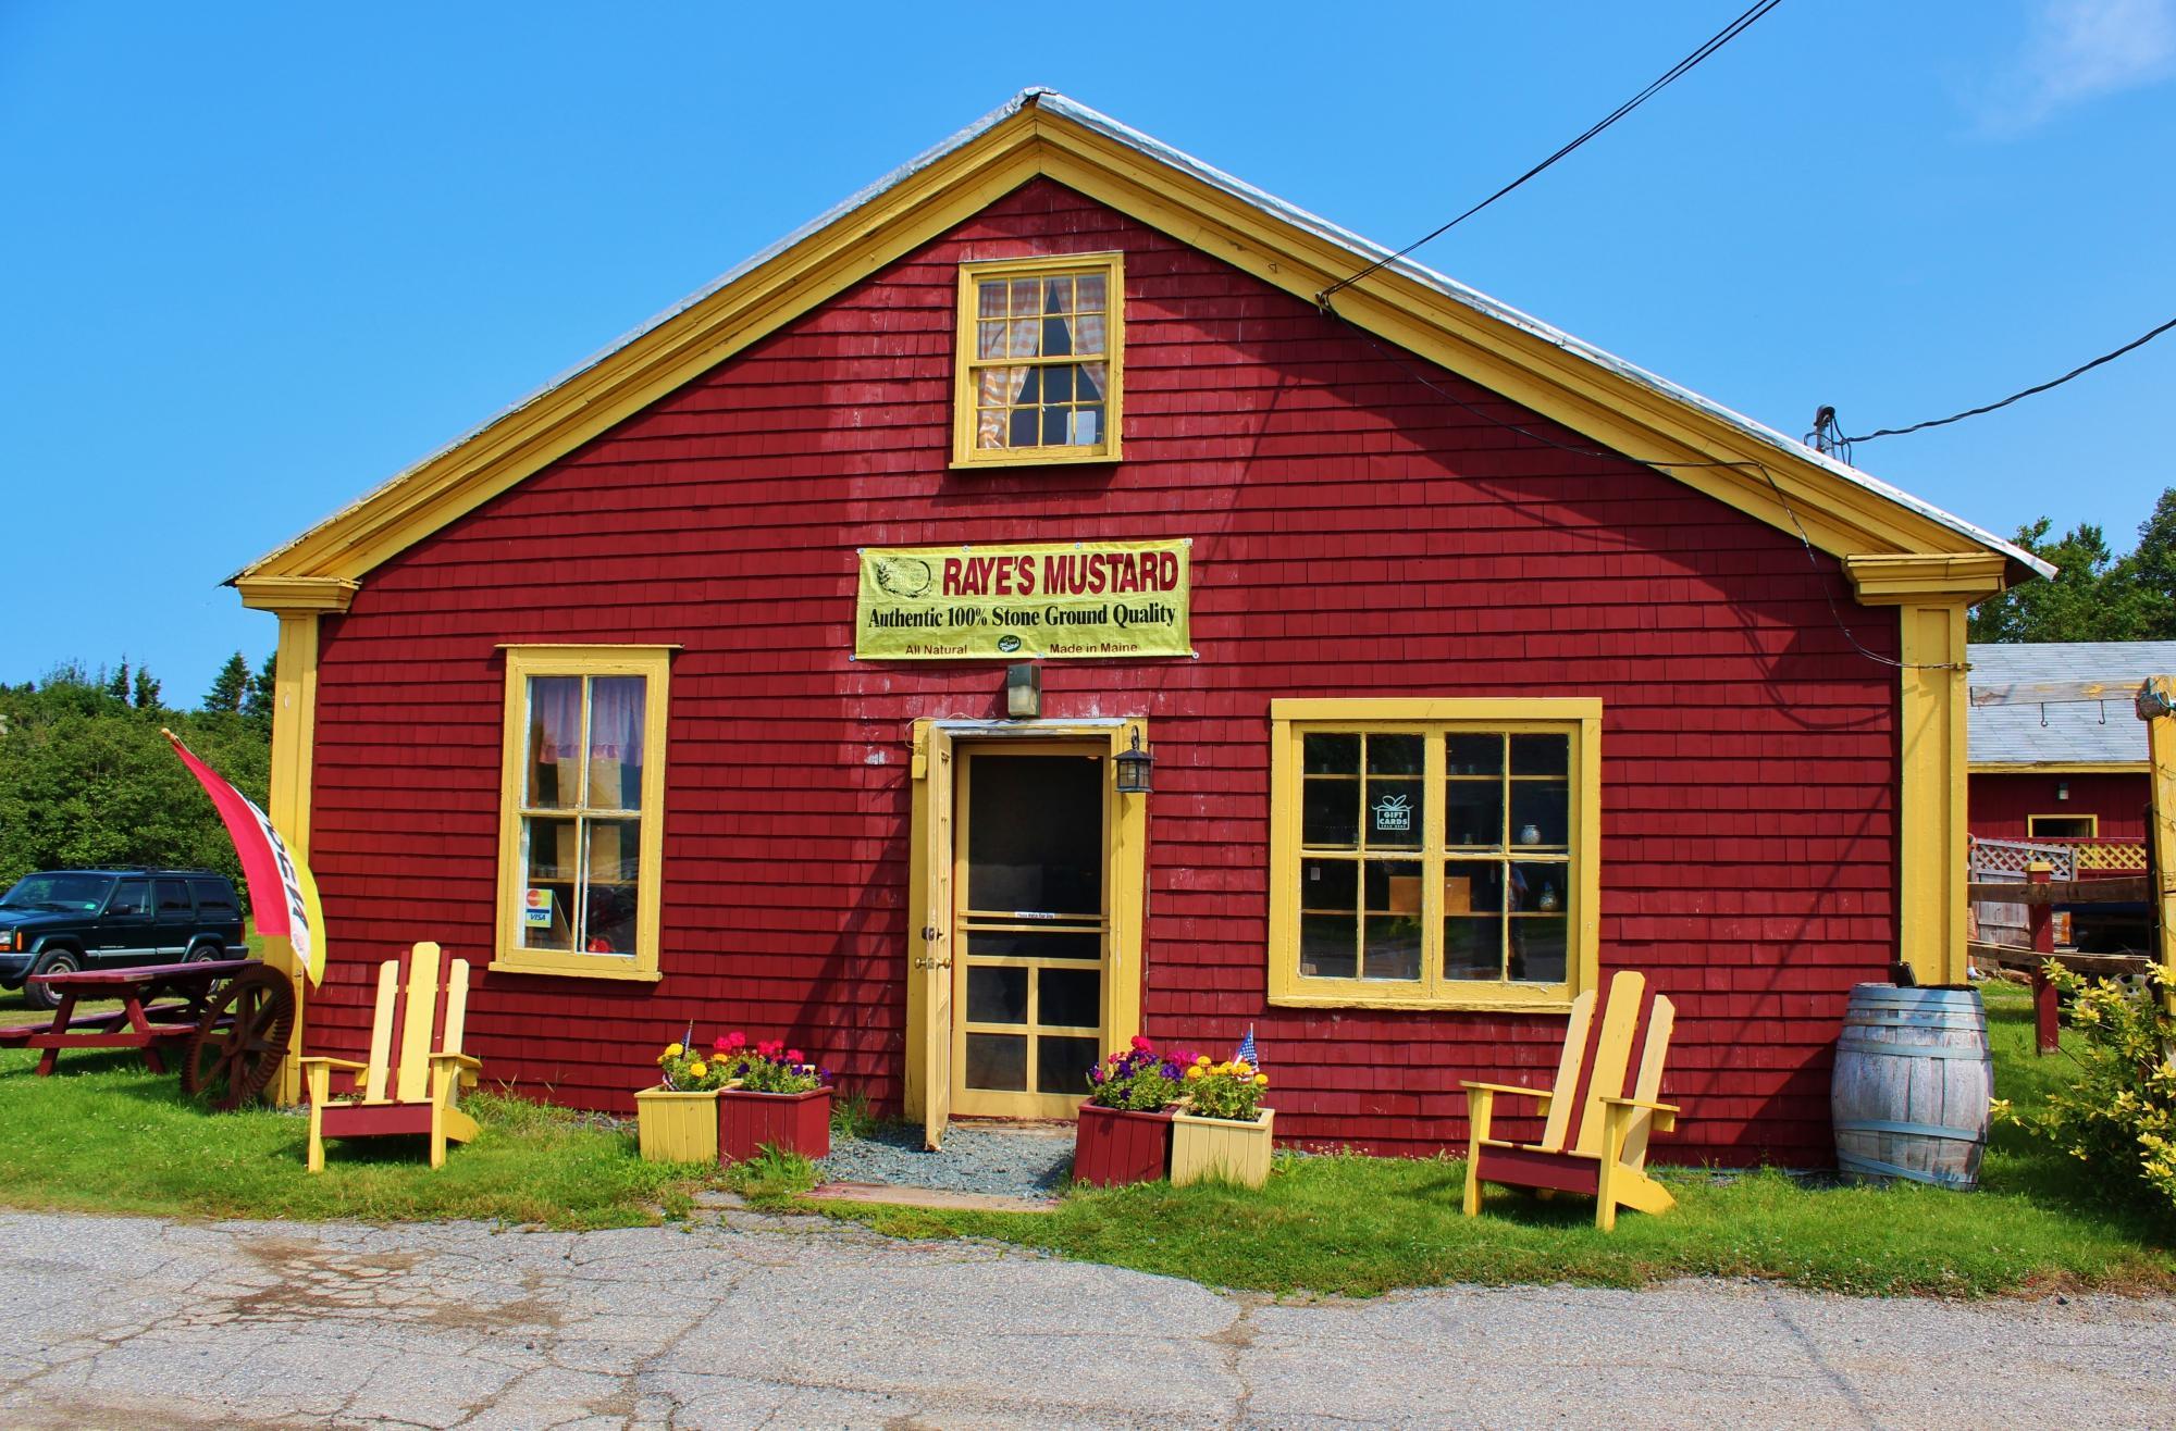
[[[1399,274],[1406,274],[1408,278],[1436,289],[1445,298],[1451,298],[1454,302],[1462,302],[1469,309],[1486,313],[1486,315],[1491,315],[1491,318],[1495,318],[1495,320],[1499,320],[1504,324],[1510,324],[1514,328],[1523,328],[1525,333],[1530,333],[1530,335],[1534,335],[1534,337],[1538,337],[1538,339],[1543,339],[1543,341],[1547,341],[1547,344],[1551,344],[1556,348],[1562,348],[1565,352],[1569,352],[1573,357],[1580,357],[1580,359],[1584,359],[1588,363],[1595,363],[1599,368],[1608,368],[1610,372],[1615,372],[1615,374],[1619,374],[1619,376],[1623,376],[1623,378],[1628,378],[1632,383],[1639,383],[1639,385],[1643,385],[1643,387],[1647,387],[1647,389],[1652,389],[1656,394],[1662,394],[1662,396],[1667,396],[1667,398],[1671,398],[1676,402],[1682,402],[1686,407],[1695,407],[1695,409],[1708,413],[1710,418],[1715,418],[1719,422],[1726,422],[1726,424],[1743,431],[1745,435],[1754,437],[1756,441],[1763,441],[1763,444],[1773,446],[1773,448],[1786,448],[1791,452],[1791,457],[1797,457],[1802,461],[1810,461],[1810,463],[1815,463],[1819,468],[1826,468],[1834,476],[1841,476],[1847,483],[1865,487],[1867,491],[1874,491],[1880,498],[1884,498],[1889,502],[1895,502],[1897,507],[1906,507],[1906,509],[1919,513],[1921,518],[1928,518],[1930,522],[1948,526],[1950,531],[1954,531],[1954,533],[1958,533],[1958,535],[1976,542],[1978,546],[1985,546],[1989,550],[2002,552],[2011,561],[2015,561],[2015,563],[2019,563],[2019,565],[2024,565],[2024,568],[2028,568],[2028,570],[2032,570],[2032,572],[2037,572],[2041,576],[2054,576],[2054,572],[2056,572],[2050,563],[2041,561],[2032,552],[2028,552],[2028,550],[2024,550],[2024,548],[2019,548],[2019,546],[2015,546],[2011,542],[2004,542],[2002,537],[1993,535],[1991,531],[1987,531],[1982,526],[1976,526],[1976,524],[1971,524],[1971,522],[1967,522],[1967,520],[1963,520],[1958,515],[1952,515],[1952,513],[1943,511],[1941,507],[1934,507],[1932,502],[1915,498],[1915,496],[1911,496],[1908,491],[1904,491],[1900,487],[1891,487],[1889,483],[1880,481],[1878,476],[1860,472],[1858,468],[1852,468],[1850,463],[1837,461],[1834,457],[1830,457],[1826,452],[1817,452],[1817,450],[1808,448],[1806,444],[1797,441],[1795,437],[1786,437],[1786,435],[1778,433],[1776,428],[1747,418],[1745,413],[1739,413],[1734,409],[1723,407],[1721,402],[1715,402],[1710,398],[1702,398],[1699,394],[1695,394],[1695,391],[1691,391],[1686,387],[1680,387],[1680,385],[1676,385],[1676,383],[1671,383],[1671,381],[1667,381],[1667,378],[1662,378],[1658,374],[1652,374],[1645,368],[1617,357],[1615,352],[1606,352],[1602,348],[1595,348],[1593,344],[1586,344],[1586,341],[1582,341],[1578,337],[1571,337],[1562,328],[1545,324],[1538,318],[1532,318],[1530,313],[1521,313],[1519,309],[1514,309],[1514,307],[1510,307],[1506,302],[1499,302],[1499,300],[1491,298],[1488,294],[1482,294],[1480,289],[1471,289],[1464,283],[1458,283],[1456,278],[1438,274],[1436,270],[1432,270],[1432,267],[1427,267],[1423,263],[1414,263],[1412,259],[1395,259],[1395,257],[1390,257],[1390,250],[1384,248],[1382,244],[1375,244],[1373,239],[1364,239],[1364,237],[1351,233],[1349,228],[1340,228],[1338,224],[1332,224],[1325,217],[1319,217],[1319,215],[1314,215],[1314,213],[1310,213],[1310,211],[1306,211],[1306,209],[1301,209],[1297,204],[1288,204],[1286,200],[1282,200],[1282,198],[1277,198],[1273,194],[1256,189],[1253,185],[1249,185],[1249,183],[1245,183],[1240,178],[1234,178],[1232,174],[1225,174],[1223,170],[1219,170],[1219,167],[1214,167],[1210,163],[1203,163],[1201,159],[1195,159],[1192,154],[1188,154],[1184,150],[1175,150],[1169,144],[1162,144],[1160,139],[1153,139],[1153,137],[1140,133],[1138,128],[1121,124],[1118,120],[1112,120],[1110,115],[1105,115],[1101,111],[1095,111],[1095,109],[1088,109],[1086,104],[1068,100],[1066,96],[1058,94],[1055,89],[1031,85],[1031,87],[1023,89],[1021,94],[1012,96],[1010,100],[1005,100],[1003,104],[999,104],[997,109],[992,109],[990,113],[986,113],[984,117],[975,120],[973,124],[968,124],[960,133],[951,135],[949,139],[942,139],[940,144],[936,144],[929,150],[916,154],[914,159],[910,159],[907,163],[899,165],[897,170],[892,170],[890,174],[886,174],[877,183],[868,185],[866,189],[860,189],[857,194],[844,198],[842,202],[838,202],[829,211],[825,211],[818,217],[809,220],[807,224],[794,228],[790,235],[786,235],[777,244],[770,244],[762,252],[755,252],[749,259],[744,259],[742,263],[735,263],[727,272],[718,274],[714,281],[705,283],[694,294],[688,294],[685,298],[681,298],[679,302],[675,302],[670,309],[666,309],[666,311],[657,313],[655,318],[651,318],[648,322],[644,322],[644,324],[627,331],[625,335],[620,335],[618,339],[614,339],[611,344],[607,344],[598,352],[590,354],[581,363],[574,363],[572,368],[568,368],[559,376],[551,378],[548,383],[544,383],[542,387],[537,387],[535,391],[531,391],[527,398],[520,398],[520,400],[511,402],[509,407],[492,413],[487,420],[483,420],[474,428],[461,433],[459,437],[455,437],[446,446],[437,448],[435,452],[431,452],[422,461],[413,463],[411,468],[407,468],[405,472],[400,472],[398,476],[394,476],[390,483],[381,483],[376,489],[363,494],[355,502],[348,502],[346,507],[342,507],[342,511],[333,513],[324,522],[318,522],[309,531],[298,533],[294,539],[279,544],[276,548],[272,548],[270,552],[265,552],[263,557],[259,557],[257,561],[252,561],[250,565],[246,565],[239,572],[235,572],[235,576],[228,576],[226,578],[228,585],[235,578],[248,574],[250,570],[255,570],[255,568],[272,561],[274,557],[279,557],[287,548],[296,546],[298,542],[302,542],[313,531],[320,531],[322,526],[329,526],[329,524],[337,522],[348,511],[368,505],[374,496],[379,496],[379,491],[385,491],[387,487],[398,485],[416,468],[422,468],[422,465],[435,461],[437,457],[450,452],[453,448],[459,448],[461,444],[466,444],[474,435],[483,433],[485,428],[494,426],[496,422],[505,420],[507,415],[522,411],[524,407],[533,405],[537,398],[544,398],[553,389],[561,387],[572,376],[577,376],[581,372],[588,372],[590,368],[594,368],[596,363],[601,363],[611,352],[618,352],[620,348],[625,348],[627,344],[635,341],[644,333],[651,333],[653,328],[657,328],[657,326],[670,322],[672,318],[677,318],[679,313],[685,313],[688,309],[692,309],[694,304],[703,302],[705,298],[709,298],[718,289],[727,287],[735,278],[742,278],[744,274],[762,267],[770,259],[775,259],[775,257],[783,254],[786,250],[790,250],[801,239],[805,239],[805,237],[809,237],[814,233],[820,233],[829,224],[833,224],[840,217],[853,213],[855,209],[860,209],[862,204],[870,202],[879,194],[892,189],[894,185],[903,183],[912,174],[918,174],[920,170],[929,167],[931,163],[944,159],[953,150],[960,150],[966,144],[973,144],[984,133],[988,133],[990,128],[1003,124],[1005,120],[1010,120],[1012,115],[1016,115],[1018,111],[1023,111],[1023,109],[1027,109],[1031,104],[1040,107],[1040,109],[1047,109],[1047,111],[1051,111],[1055,115],[1064,115],[1066,120],[1073,120],[1075,124],[1081,124],[1084,128],[1092,128],[1099,135],[1105,135],[1105,137],[1114,139],[1116,144],[1123,144],[1123,146],[1127,146],[1132,150],[1138,150],[1140,154],[1145,154],[1145,157],[1149,157],[1149,159],[1153,159],[1158,163],[1166,163],[1166,165],[1171,165],[1175,170],[1184,170],[1184,172],[1192,174],[1195,178],[1199,178],[1201,183],[1214,185],[1214,187],[1232,194],[1234,198],[1240,198],[1240,200],[1245,200],[1249,204],[1256,204],[1258,209],[1275,213],[1277,217],[1286,220],[1288,224],[1306,228],[1306,231],[1310,231],[1310,233],[1327,239],[1330,244],[1336,244],[1336,246],[1349,250],[1353,254],[1353,259],[1356,259],[1353,267],[1364,267],[1369,263],[1384,261],[1386,270],[1395,270]],[[1639,461],[1639,452],[1625,452],[1625,457]]]

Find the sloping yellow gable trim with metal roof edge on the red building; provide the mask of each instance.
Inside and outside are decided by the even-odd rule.
[[[1023,120],[1021,115],[1029,115]],[[1023,170],[1023,163],[1027,165]],[[1719,496],[1837,557],[1958,555],[2008,578],[2052,576],[2039,557],[1889,483],[1571,337],[1410,257],[1288,204],[1047,85],[1029,85],[966,128],[751,254],[681,302],[561,372],[368,496],[228,578],[359,581],[405,546],[505,491],[544,463],[716,365],[838,287],[875,254],[934,237],[966,176],[1044,174],[1151,226],[1184,215],[1197,235],[1234,235],[1227,261],[1316,302],[1362,267],[1336,311],[1462,372],[1632,461]],[[1132,204],[1132,209],[1129,209]],[[1199,226],[1195,226],[1199,224]],[[936,228],[936,231],[942,231]],[[1199,239],[1195,239],[1199,241]],[[1258,259],[1249,263],[1249,259]],[[890,261],[890,259],[886,259]],[[831,285],[831,287],[827,287]],[[1443,335],[1441,352],[1430,341]],[[1597,415],[1599,409],[1599,415]],[[1760,476],[1754,478],[1752,472]],[[1786,496],[1789,491],[1789,496]],[[1980,574],[1976,581],[2000,581]]]

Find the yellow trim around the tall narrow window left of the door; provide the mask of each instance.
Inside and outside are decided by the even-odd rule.
[[[498,766],[498,948],[490,968],[507,974],[557,974],[655,983],[657,911],[666,842],[666,709],[675,646],[503,646],[507,652],[505,735]],[[522,948],[516,900],[522,870],[522,774],[529,759],[531,676],[642,676],[642,844],[635,881],[635,955]]]

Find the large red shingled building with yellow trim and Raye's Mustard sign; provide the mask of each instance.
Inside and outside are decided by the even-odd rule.
[[[1319,302],[1377,257],[1029,91],[248,568],[311,1050],[429,937],[574,1105],[690,1022],[934,1131],[1253,1026],[1279,1135],[1425,1153],[1639,968],[1658,1157],[1828,1161],[2032,561],[1419,265]]]

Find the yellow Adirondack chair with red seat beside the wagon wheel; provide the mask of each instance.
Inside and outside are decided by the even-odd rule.
[[[407,981],[403,990],[403,968]],[[477,1059],[461,1053],[468,1018],[468,959],[450,959],[440,983],[437,944],[379,966],[379,1007],[370,1022],[370,1061],[302,1059],[309,1081],[309,1170],[324,1172],[326,1137],[429,1133],[431,1166],[446,1166],[446,1144],[477,1135],[477,1120],[453,1105],[477,1085]],[[398,1046],[394,1037],[398,1035]],[[355,1074],[361,1100],[333,1100],[333,1072]]]

